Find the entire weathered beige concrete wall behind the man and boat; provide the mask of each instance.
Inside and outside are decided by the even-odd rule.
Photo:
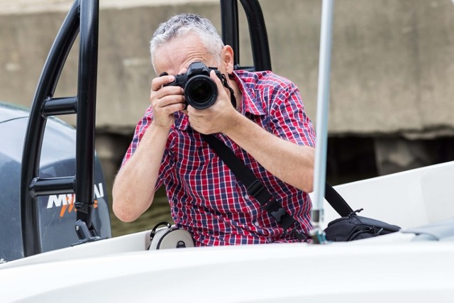
[[[72,1],[0,1],[0,99],[30,105]],[[166,4],[167,3],[167,4]],[[315,118],[321,1],[262,0],[275,72],[294,80]],[[148,106],[148,40],[179,12],[220,24],[218,1],[101,1],[97,126],[130,132]],[[242,19],[243,20],[243,19]],[[244,20],[243,20],[244,21]],[[248,64],[242,26],[241,62]],[[454,5],[450,0],[337,0],[330,131],[454,132]],[[72,52],[56,96],[75,94]],[[68,121],[74,123],[70,118]]]

